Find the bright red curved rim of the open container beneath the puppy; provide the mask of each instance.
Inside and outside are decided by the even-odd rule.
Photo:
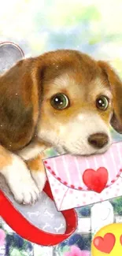
[[[46,182],[44,191],[54,201],[48,182]],[[6,198],[4,193],[0,191],[0,216],[18,235],[22,236],[24,239],[28,239],[32,243],[38,243],[43,246],[54,246],[68,239],[68,236],[71,236],[72,233],[75,232],[77,227],[77,215],[75,210],[64,210],[61,213],[65,217],[66,222],[65,234],[44,232],[25,219],[25,217],[14,208],[12,203],[9,202],[9,199]]]

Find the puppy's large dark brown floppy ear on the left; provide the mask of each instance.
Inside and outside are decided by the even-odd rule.
[[[0,76],[0,143],[9,150],[27,145],[35,131],[32,63],[32,58],[19,61]]]

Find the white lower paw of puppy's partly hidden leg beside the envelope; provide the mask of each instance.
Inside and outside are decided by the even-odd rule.
[[[43,191],[43,187],[46,184],[46,173],[45,171],[35,171],[31,170],[31,176],[35,180],[35,184],[37,184],[37,187],[39,188],[39,191]]]

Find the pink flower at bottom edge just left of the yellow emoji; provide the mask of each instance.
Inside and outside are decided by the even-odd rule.
[[[88,250],[80,250],[78,247],[73,246],[70,247],[71,250],[65,253],[65,256],[90,256],[90,251]]]

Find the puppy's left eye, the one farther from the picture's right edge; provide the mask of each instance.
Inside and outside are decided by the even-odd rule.
[[[66,109],[69,106],[69,100],[66,95],[58,93],[50,99],[50,104],[54,109]]]

